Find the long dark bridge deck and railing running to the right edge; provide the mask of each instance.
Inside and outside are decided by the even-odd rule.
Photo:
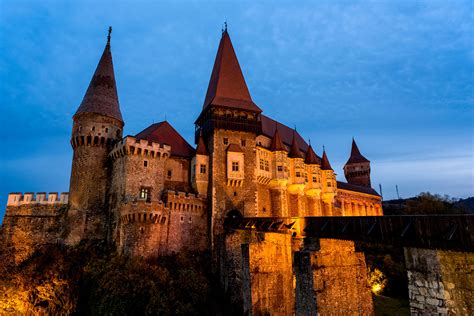
[[[403,247],[474,252],[474,215],[245,217],[227,227]]]

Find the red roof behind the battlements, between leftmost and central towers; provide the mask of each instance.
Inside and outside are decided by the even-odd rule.
[[[150,125],[138,133],[135,138],[169,145],[172,156],[194,157],[194,148],[167,121]]]

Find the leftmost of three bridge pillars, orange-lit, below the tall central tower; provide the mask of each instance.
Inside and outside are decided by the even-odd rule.
[[[221,256],[221,284],[244,314],[294,314],[290,234],[235,230]]]

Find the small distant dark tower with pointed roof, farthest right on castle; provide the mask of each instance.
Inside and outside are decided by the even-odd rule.
[[[348,183],[362,185],[370,188],[370,161],[359,151],[357,144],[352,139],[351,156],[344,165],[344,176]]]

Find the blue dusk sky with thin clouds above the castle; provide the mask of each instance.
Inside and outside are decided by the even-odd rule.
[[[474,192],[472,1],[0,1],[0,215],[67,191],[72,115],[113,26],[125,133],[188,141],[225,20],[254,101],[342,166],[354,136],[394,198]]]

